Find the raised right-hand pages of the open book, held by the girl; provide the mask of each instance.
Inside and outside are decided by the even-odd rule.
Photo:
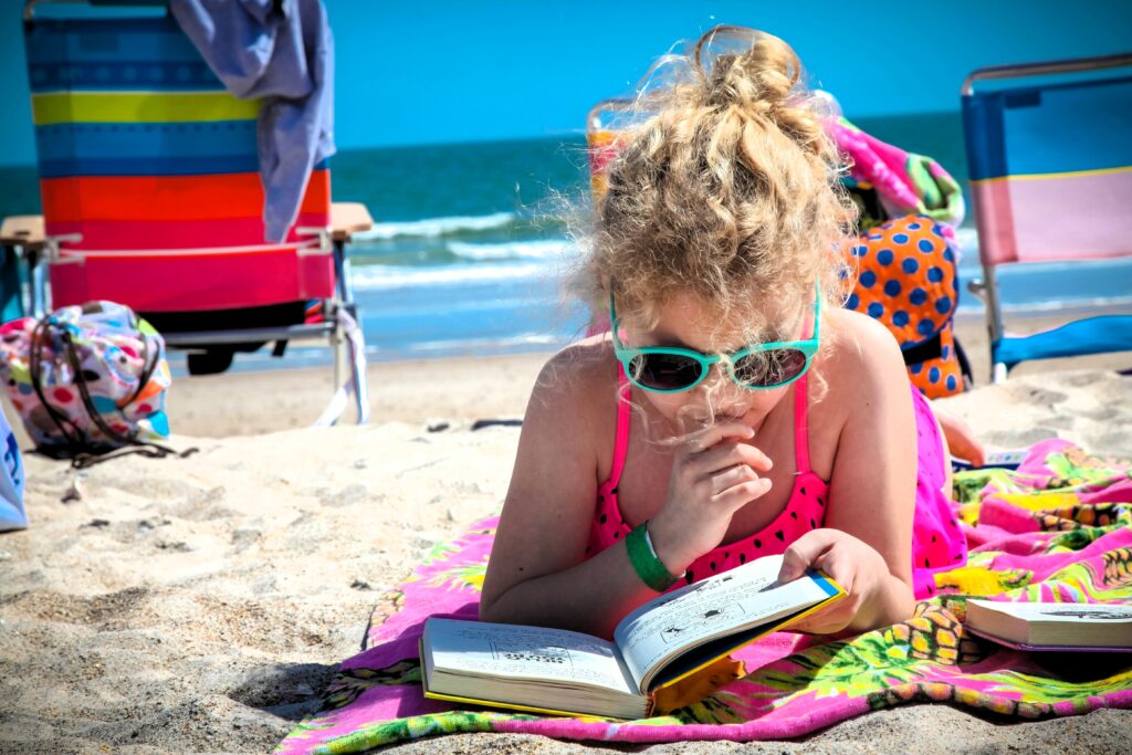
[[[643,688],[655,667],[713,636],[738,634],[830,597],[808,575],[779,585],[781,566],[781,556],[760,558],[661,595],[626,616],[614,638],[634,681]]]

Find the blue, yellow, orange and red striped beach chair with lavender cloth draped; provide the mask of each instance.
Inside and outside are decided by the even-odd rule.
[[[162,8],[45,7],[27,2],[24,26],[51,307],[128,304],[192,352],[194,372],[222,371],[233,351],[324,340],[365,421],[344,247],[371,225],[365,207],[332,208],[329,171],[316,165],[286,238],[266,243],[259,102],[229,94]]]

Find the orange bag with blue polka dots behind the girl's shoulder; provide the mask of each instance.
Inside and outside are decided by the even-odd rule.
[[[846,307],[880,320],[897,337],[920,393],[928,398],[960,393],[955,249],[940,224],[925,215],[887,221],[863,232],[850,255],[856,283]]]

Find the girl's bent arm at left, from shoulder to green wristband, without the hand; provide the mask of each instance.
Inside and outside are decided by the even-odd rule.
[[[654,598],[624,546],[584,559],[598,490],[597,443],[607,431],[590,404],[616,378],[585,346],[555,357],[531,394],[496,533],[480,618],[612,636],[621,616]]]

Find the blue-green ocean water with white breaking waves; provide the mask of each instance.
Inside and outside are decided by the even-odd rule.
[[[858,125],[966,183],[958,113]],[[564,215],[584,211],[589,191],[581,135],[342,151],[331,168],[335,199],[365,203],[376,221],[350,248],[370,360],[542,351],[584,331],[584,311],[560,293],[578,259]],[[36,194],[34,170],[0,170],[5,215],[38,212]],[[960,312],[980,315],[966,292],[979,274],[969,218],[959,237]],[[1007,312],[1132,311],[1132,261],[1022,266],[1000,284]],[[325,350],[292,349],[284,360],[241,355],[237,368],[326,361]]]

